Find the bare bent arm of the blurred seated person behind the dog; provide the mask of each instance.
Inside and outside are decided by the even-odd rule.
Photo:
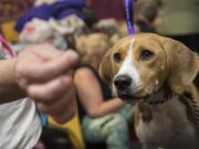
[[[101,85],[90,68],[80,68],[75,72],[74,83],[80,102],[91,117],[100,117],[116,111],[124,103],[119,98],[104,102]]]

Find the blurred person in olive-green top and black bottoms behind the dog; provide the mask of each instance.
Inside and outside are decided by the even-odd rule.
[[[199,51],[199,0],[151,0],[159,6],[156,32]]]

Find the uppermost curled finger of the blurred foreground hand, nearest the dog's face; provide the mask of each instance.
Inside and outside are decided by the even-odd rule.
[[[71,71],[77,62],[78,55],[75,52],[69,51],[56,60],[32,63],[24,68],[25,71],[21,75],[30,82],[45,82]]]

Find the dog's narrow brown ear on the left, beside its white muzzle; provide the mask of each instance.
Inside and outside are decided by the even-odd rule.
[[[112,49],[108,50],[103,56],[100,64],[100,76],[103,81],[105,81],[108,85],[111,85],[114,77],[114,68],[112,62]]]

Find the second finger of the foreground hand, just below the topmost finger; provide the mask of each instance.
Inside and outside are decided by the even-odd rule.
[[[73,88],[71,76],[60,76],[45,84],[30,85],[28,94],[36,102],[53,103],[59,97]]]

